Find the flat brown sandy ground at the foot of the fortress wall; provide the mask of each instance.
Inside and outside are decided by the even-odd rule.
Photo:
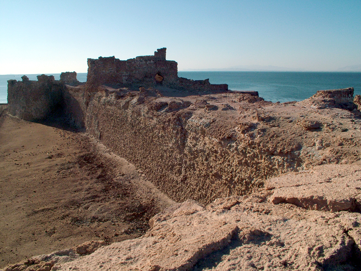
[[[140,236],[174,204],[86,134],[0,117],[0,268],[89,240]]]

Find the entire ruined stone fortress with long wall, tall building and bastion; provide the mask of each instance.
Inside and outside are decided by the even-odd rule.
[[[307,102],[312,110],[356,106],[353,88],[318,92]],[[320,163],[300,156],[303,145],[312,143],[298,136],[304,129],[322,130],[320,122],[302,124],[294,117],[298,124],[290,132],[293,119],[266,113],[273,104],[257,92],[179,78],[166,48],[129,60],[88,59],[86,83],[78,82],[75,72],[62,73],[60,80],[47,75],[9,80],[8,104],[10,114],[27,121],[51,119],[86,131],[176,201],[209,203],[247,194],[271,176]],[[301,106],[293,105],[275,104],[287,106],[287,114]],[[341,159],[335,157],[322,159]]]

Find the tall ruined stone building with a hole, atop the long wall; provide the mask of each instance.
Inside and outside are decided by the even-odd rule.
[[[166,60],[166,48],[157,49],[154,56],[138,56],[128,60],[112,57],[88,58],[87,88],[96,91],[101,84],[124,87],[155,87],[162,85],[190,91],[228,91],[227,84],[210,84],[209,80],[178,77],[178,64]]]

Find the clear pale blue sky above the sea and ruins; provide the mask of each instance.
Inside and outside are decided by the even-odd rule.
[[[167,47],[178,70],[361,70],[361,1],[1,0],[0,74],[87,71]]]

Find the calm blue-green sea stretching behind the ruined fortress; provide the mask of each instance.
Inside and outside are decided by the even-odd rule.
[[[26,74],[37,80],[39,74]],[[56,80],[60,74],[54,75]],[[280,71],[179,71],[179,77],[193,80],[209,79],[211,84],[228,84],[235,91],[258,91],[266,101],[301,101],[323,89],[353,87],[354,95],[361,95],[361,73],[356,72],[280,72]],[[7,80],[22,80],[22,75],[0,75],[0,103],[7,102]],[[86,73],[78,73],[80,82]]]

